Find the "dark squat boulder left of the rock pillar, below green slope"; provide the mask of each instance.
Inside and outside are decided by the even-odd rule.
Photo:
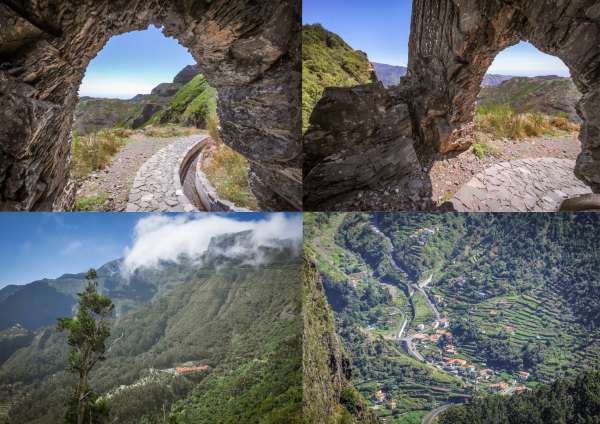
[[[381,83],[329,88],[310,124],[304,137],[306,210],[346,209],[341,205],[357,192],[381,186],[402,189],[407,209],[421,209],[420,200],[431,197],[426,186],[414,186],[421,171],[409,107],[398,92]],[[360,206],[348,209],[354,208]],[[386,207],[378,202],[369,209]]]

